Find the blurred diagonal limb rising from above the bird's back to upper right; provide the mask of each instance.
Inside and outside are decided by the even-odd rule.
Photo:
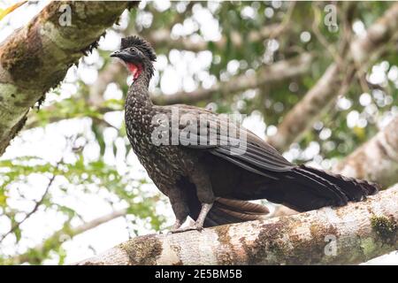
[[[325,110],[336,96],[344,95],[348,90],[355,70],[352,65],[364,68],[371,59],[379,56],[381,50],[398,31],[398,4],[393,4],[385,14],[369,27],[366,36],[357,38],[350,44],[351,56],[345,57],[342,65],[333,63],[313,88],[295,104],[278,127],[277,134],[268,142],[283,150],[312,125],[312,122]],[[355,64],[354,64],[355,63]]]

